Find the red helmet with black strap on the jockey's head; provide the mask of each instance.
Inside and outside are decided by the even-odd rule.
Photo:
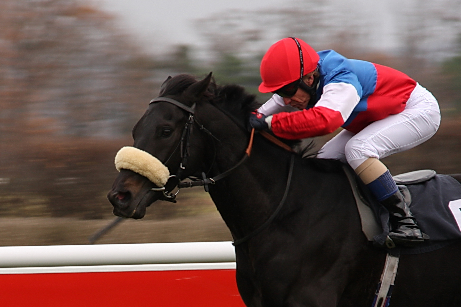
[[[317,68],[319,55],[299,38],[287,37],[273,44],[262,58],[260,73],[261,93],[278,90],[299,80]],[[303,63],[303,67],[301,67]]]

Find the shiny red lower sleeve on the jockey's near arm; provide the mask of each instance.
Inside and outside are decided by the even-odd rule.
[[[272,116],[272,132],[284,139],[304,139],[325,135],[344,124],[339,111],[322,106]]]

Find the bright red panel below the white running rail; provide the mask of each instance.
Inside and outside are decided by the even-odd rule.
[[[1,307],[244,307],[235,270],[0,275]]]

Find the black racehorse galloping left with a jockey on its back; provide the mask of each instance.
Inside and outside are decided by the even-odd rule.
[[[188,160],[181,179],[207,177],[233,168],[248,145],[248,115],[258,106],[241,87],[216,86],[178,75],[160,96],[192,107]],[[155,102],[133,128],[134,147],[147,151],[175,173],[183,162],[181,138],[189,112]],[[293,154],[259,134],[251,156],[231,174],[209,185],[234,238],[258,229],[285,194]],[[108,198],[114,214],[140,219],[162,197],[151,181],[122,169]],[[461,244],[419,255],[402,255],[390,306],[461,306]],[[251,307],[370,307],[386,253],[366,240],[348,179],[340,162],[294,159],[292,181],[276,218],[236,246],[236,280]]]

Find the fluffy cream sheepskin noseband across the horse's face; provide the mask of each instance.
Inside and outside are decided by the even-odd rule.
[[[159,159],[136,147],[125,146],[115,156],[115,168],[129,169],[148,178],[155,185],[163,187],[168,181],[170,172]]]

